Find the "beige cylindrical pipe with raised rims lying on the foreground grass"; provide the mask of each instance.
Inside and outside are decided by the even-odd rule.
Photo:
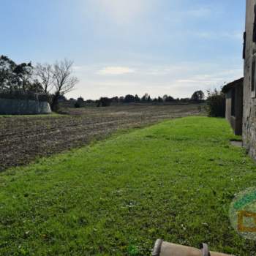
[[[158,239],[154,246],[152,256],[232,256],[219,252],[210,252],[207,244],[202,244],[201,249],[196,249],[178,244],[171,244]]]

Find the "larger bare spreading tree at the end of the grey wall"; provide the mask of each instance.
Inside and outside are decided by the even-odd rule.
[[[65,59],[64,61],[56,61],[52,68],[53,78],[53,99],[51,102],[51,109],[56,110],[58,108],[59,96],[67,94],[74,89],[78,83],[78,78],[72,76],[73,62]]]

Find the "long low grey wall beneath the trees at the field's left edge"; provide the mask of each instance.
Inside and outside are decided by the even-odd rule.
[[[48,102],[30,99],[0,99],[0,115],[31,115],[51,113]]]

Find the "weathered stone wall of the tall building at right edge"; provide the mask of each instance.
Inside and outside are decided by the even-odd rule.
[[[244,59],[244,119],[243,143],[249,154],[256,159],[256,99],[252,97],[252,60],[256,44],[252,40],[256,0],[246,0],[246,48]]]

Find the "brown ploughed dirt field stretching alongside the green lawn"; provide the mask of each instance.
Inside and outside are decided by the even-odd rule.
[[[203,107],[202,107],[203,108]],[[200,115],[199,105],[123,105],[67,109],[59,116],[0,117],[0,171],[170,118]]]

